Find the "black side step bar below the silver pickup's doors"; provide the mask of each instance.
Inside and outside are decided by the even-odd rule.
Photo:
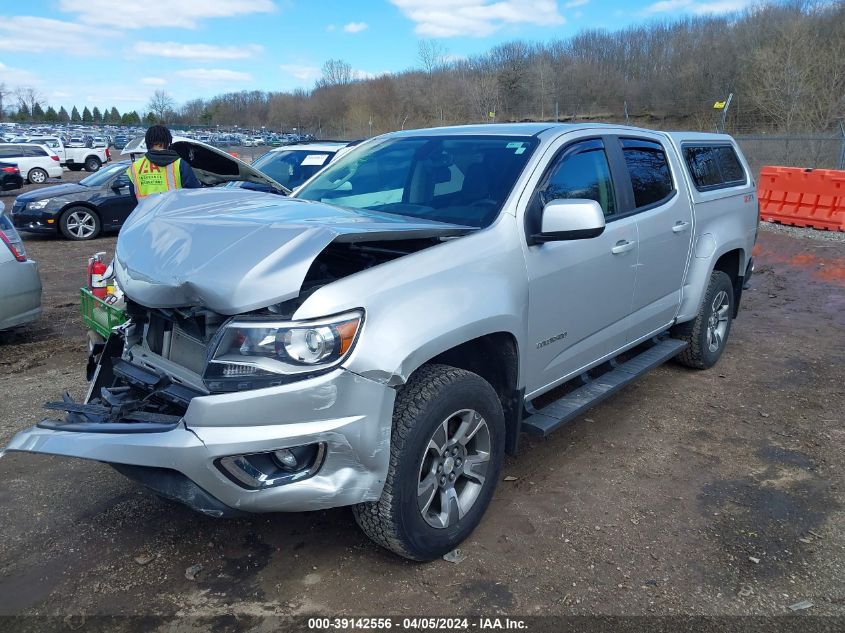
[[[522,430],[531,435],[547,436],[628,383],[677,356],[686,346],[686,342],[677,339],[660,340],[653,347],[617,365],[606,374],[589,380],[582,387],[578,387],[542,409],[534,409],[530,403],[526,403],[526,409],[530,415],[522,420]]]

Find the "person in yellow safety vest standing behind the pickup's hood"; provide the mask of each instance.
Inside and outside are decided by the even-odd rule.
[[[144,135],[147,153],[126,170],[138,202],[176,189],[202,187],[191,166],[170,149],[173,136],[163,125],[153,125]]]

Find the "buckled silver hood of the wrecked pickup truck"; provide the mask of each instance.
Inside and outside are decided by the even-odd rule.
[[[118,284],[149,308],[239,314],[299,294],[333,241],[452,237],[475,229],[237,188],[183,189],[139,205],[120,231]]]

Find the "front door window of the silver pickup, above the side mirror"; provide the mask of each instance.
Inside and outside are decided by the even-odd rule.
[[[540,203],[552,200],[595,200],[605,217],[616,213],[616,196],[604,143],[598,139],[568,147],[540,191]]]

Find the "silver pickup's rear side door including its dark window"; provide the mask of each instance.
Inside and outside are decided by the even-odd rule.
[[[630,185],[629,213],[637,221],[639,256],[629,341],[668,326],[681,304],[693,234],[692,205],[671,146],[660,135],[620,136]]]

